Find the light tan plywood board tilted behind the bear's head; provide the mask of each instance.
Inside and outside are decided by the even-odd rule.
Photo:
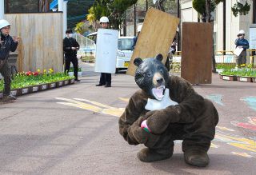
[[[164,58],[162,62],[165,63],[178,23],[178,18],[150,8],[146,13],[127,74],[134,76],[137,68],[134,66],[135,58],[154,58],[157,54],[162,54]]]

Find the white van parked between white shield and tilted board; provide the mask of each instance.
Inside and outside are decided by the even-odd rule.
[[[127,70],[130,64],[130,58],[133,55],[134,37],[119,37],[118,38],[118,56],[116,73],[118,70]]]

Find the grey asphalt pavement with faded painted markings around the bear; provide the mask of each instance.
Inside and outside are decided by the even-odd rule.
[[[96,87],[99,74],[83,63],[81,82],[30,93],[0,104],[0,174],[256,174],[256,83],[229,82],[213,74],[194,86],[214,101],[219,122],[210,165],[186,165],[182,141],[168,160],[144,163],[143,145],[128,145],[118,117],[138,89],[134,77],[112,75],[112,87]]]

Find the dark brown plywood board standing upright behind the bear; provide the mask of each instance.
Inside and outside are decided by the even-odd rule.
[[[191,84],[210,84],[212,56],[212,23],[183,22],[181,77]]]

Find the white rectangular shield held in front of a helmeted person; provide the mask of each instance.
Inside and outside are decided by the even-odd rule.
[[[118,54],[118,30],[99,29],[96,42],[94,71],[115,73]]]

